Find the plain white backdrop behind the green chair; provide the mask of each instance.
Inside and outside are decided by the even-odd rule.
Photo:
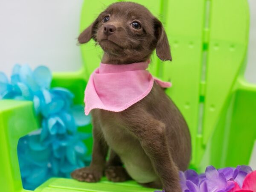
[[[0,0],[0,71],[11,73],[16,63],[52,71],[81,67],[76,46],[83,0]],[[250,44],[245,78],[256,83],[256,0],[250,3]],[[256,144],[251,158],[256,169]]]

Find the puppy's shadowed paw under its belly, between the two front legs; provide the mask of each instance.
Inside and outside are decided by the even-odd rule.
[[[113,182],[122,182],[125,180],[131,180],[131,177],[122,166],[108,166],[105,169],[105,175],[108,180]]]

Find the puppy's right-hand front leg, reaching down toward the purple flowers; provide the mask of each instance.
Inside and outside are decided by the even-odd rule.
[[[181,192],[178,169],[169,151],[163,122],[154,119],[142,108],[127,110],[123,113],[123,120],[128,131],[137,137],[150,158],[165,192]]]

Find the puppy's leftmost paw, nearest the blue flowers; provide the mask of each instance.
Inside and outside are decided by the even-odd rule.
[[[73,179],[79,181],[86,181],[86,182],[98,182],[102,177],[102,171],[99,171],[92,167],[84,167],[81,169],[76,169],[71,173],[71,177]]]

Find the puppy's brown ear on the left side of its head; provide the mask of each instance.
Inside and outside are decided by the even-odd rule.
[[[83,32],[78,37],[79,44],[85,44],[88,41],[90,41],[91,38],[93,38],[96,41],[96,32],[98,28],[98,18],[90,24],[86,29],[84,29]]]

